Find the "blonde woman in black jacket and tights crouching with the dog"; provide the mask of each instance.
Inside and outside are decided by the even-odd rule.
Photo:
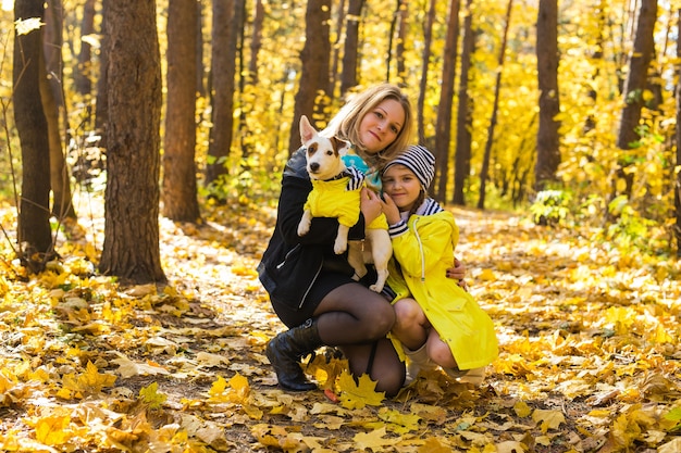
[[[394,85],[371,87],[355,96],[324,134],[350,142],[355,153],[377,172],[410,142],[411,104]],[[312,189],[305,166],[305,150],[299,149],[284,168],[276,225],[258,266],[274,312],[289,328],[268,343],[268,358],[281,387],[312,390],[317,386],[305,376],[300,358],[321,345],[338,347],[355,376],[366,373],[377,382],[376,391],[394,395],[405,380],[405,366],[386,338],[395,323],[393,306],[352,280],[347,255],[334,253],[337,219],[314,218],[307,235],[297,235]],[[380,199],[366,190],[349,239],[363,239],[364,224],[376,218],[381,209]]]

